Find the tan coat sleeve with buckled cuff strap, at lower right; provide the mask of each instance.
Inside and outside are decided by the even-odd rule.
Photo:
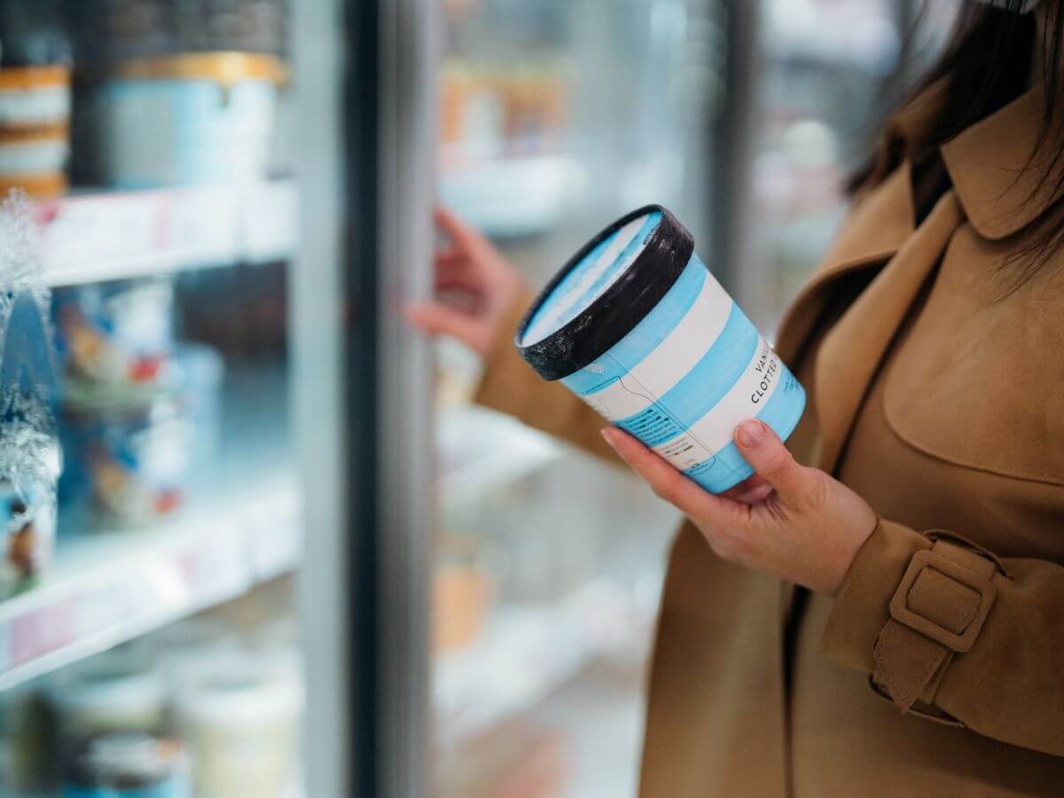
[[[903,712],[1064,755],[1064,566],[880,521],[824,633]]]

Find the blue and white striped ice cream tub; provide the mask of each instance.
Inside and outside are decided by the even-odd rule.
[[[648,213],[596,246],[539,305],[522,340],[601,296],[660,219]],[[802,386],[694,253],[630,332],[562,383],[712,493],[752,473],[732,442],[741,421],[759,418],[785,439],[805,406]]]

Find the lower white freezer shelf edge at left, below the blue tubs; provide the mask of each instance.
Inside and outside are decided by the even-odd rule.
[[[299,553],[287,476],[150,531],[64,539],[45,581],[0,603],[0,691],[234,598]]]

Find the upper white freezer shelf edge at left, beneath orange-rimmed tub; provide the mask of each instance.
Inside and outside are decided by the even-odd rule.
[[[296,184],[73,194],[37,203],[45,278],[71,285],[288,257]]]

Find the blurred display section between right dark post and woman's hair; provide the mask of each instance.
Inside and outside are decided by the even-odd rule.
[[[750,23],[749,182],[729,267],[736,299],[775,330],[846,213],[877,128],[938,52],[951,0],[766,0]]]

